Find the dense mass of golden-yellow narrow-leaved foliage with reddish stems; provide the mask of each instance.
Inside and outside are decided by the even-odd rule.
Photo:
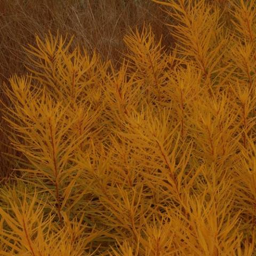
[[[1,255],[255,255],[256,2],[157,1],[119,69],[50,32],[4,84],[21,175]]]

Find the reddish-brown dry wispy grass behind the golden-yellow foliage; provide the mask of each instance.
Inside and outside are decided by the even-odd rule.
[[[170,23],[162,6],[150,0],[1,0],[0,1],[0,84],[26,72],[29,65],[22,46],[35,45],[35,35],[51,33],[74,35],[73,47],[79,43],[89,52],[95,48],[102,60],[111,59],[115,67],[124,52],[123,37],[129,27],[140,29],[151,24],[156,41],[162,37],[166,50],[174,40],[166,33]],[[122,53],[121,53],[122,52]],[[3,98],[2,86],[0,91]],[[2,119],[0,122],[4,122]],[[3,127],[3,125],[2,125]],[[14,161],[3,153],[9,143],[0,133],[0,177],[9,177]],[[8,149],[10,151],[10,149]],[[9,152],[10,154],[17,154]]]

